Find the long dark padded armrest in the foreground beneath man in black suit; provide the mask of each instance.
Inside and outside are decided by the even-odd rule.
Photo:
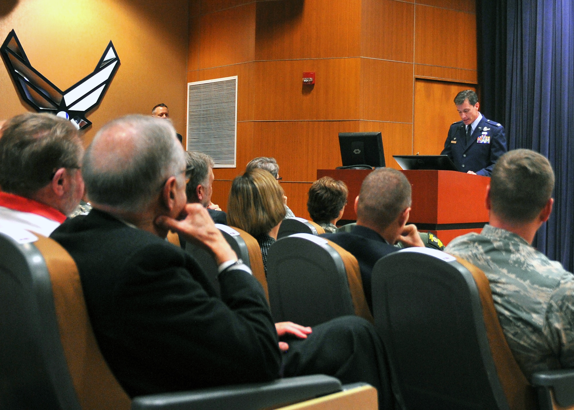
[[[331,376],[289,377],[272,382],[223,386],[191,392],[134,397],[132,410],[260,410],[276,408],[342,390]]]

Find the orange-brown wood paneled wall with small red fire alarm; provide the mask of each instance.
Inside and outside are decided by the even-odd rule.
[[[188,81],[232,75],[238,167],[215,170],[214,202],[225,209],[247,162],[273,156],[289,206],[308,217],[316,170],[341,165],[339,132],[382,131],[397,168],[393,154],[413,153],[415,80],[476,83],[475,3],[190,0]]]

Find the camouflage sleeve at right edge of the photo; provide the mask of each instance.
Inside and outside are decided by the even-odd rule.
[[[552,295],[544,332],[560,364],[564,368],[574,368],[574,279],[560,285]]]

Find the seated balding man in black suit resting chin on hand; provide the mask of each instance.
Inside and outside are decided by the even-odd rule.
[[[368,382],[381,408],[393,408],[368,322],[273,323],[261,285],[207,210],[186,203],[185,154],[169,122],[133,115],[104,125],[82,172],[94,208],[52,238],[76,261],[98,345],[130,396],[325,373]],[[168,230],[211,250],[220,298],[193,257],[165,241]],[[278,334],[292,339],[280,346]]]

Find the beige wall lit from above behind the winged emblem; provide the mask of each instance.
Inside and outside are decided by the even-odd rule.
[[[88,144],[110,119],[169,106],[185,134],[188,1],[2,0],[0,42],[14,29],[30,63],[61,90],[90,74],[111,40],[121,65],[87,118]],[[0,67],[0,118],[32,111]]]

